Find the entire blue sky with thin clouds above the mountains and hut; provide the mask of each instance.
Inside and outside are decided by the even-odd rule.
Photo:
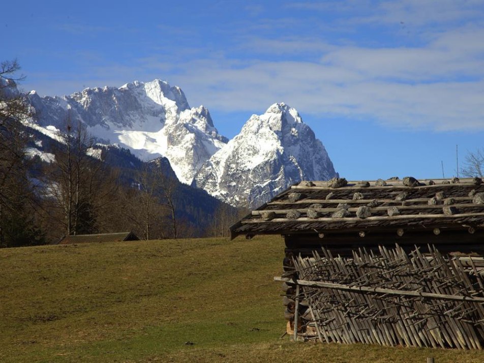
[[[484,2],[22,1],[0,59],[24,90],[164,79],[236,135],[296,108],[348,179],[445,177],[484,147]]]

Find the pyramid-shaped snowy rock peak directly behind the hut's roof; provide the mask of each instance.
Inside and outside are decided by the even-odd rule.
[[[236,206],[257,207],[300,180],[337,176],[326,150],[298,112],[284,103],[252,115],[207,160],[194,186]]]

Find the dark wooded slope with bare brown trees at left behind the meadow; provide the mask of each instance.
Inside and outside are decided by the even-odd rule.
[[[129,230],[145,239],[227,236],[245,213],[180,184],[164,158],[144,163],[95,145],[77,120],[66,119],[56,140],[25,126],[35,114],[17,92],[18,70],[0,64],[0,247]]]

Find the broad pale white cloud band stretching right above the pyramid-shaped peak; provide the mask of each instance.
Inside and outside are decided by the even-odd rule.
[[[324,48],[320,63],[204,59],[184,64],[186,72],[176,81],[192,103],[224,111],[261,110],[284,101],[303,113],[366,117],[392,127],[484,130],[480,39],[484,29],[464,27],[422,47],[316,43]],[[273,48],[292,50],[285,45],[278,41]],[[299,46],[309,45],[303,39]]]

